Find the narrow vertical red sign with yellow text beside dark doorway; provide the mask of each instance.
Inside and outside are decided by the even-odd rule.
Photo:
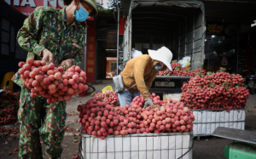
[[[87,30],[87,50],[86,50],[86,82],[94,82],[95,72],[95,43],[96,28],[88,28]]]

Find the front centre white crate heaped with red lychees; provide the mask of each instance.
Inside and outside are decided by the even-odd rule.
[[[99,97],[78,106],[84,158],[192,158],[192,111],[176,100],[143,108],[136,97],[124,107]]]

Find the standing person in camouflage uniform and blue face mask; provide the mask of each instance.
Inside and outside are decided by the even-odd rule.
[[[88,14],[96,16],[96,3],[95,0],[67,0],[65,3],[67,8],[64,9],[38,7],[25,20],[17,39],[20,46],[28,51],[27,58],[54,61],[55,66],[80,65],[84,54],[85,30],[79,22],[86,20]],[[43,158],[39,134],[47,145],[47,156],[59,158],[67,118],[66,101],[49,105],[44,97],[30,97],[18,72],[13,81],[21,87],[19,158]]]

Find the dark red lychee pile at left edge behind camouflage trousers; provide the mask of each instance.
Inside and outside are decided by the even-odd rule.
[[[3,91],[0,93],[0,125],[15,123],[19,109],[20,96],[17,93]]]

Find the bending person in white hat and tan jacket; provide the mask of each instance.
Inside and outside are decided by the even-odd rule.
[[[145,106],[153,105],[150,94],[152,82],[158,71],[164,71],[171,67],[172,52],[162,47],[158,50],[148,49],[148,54],[139,55],[127,62],[121,76],[124,82],[125,90],[119,93],[119,102],[121,107],[131,104],[131,94],[138,93],[143,95]]]

